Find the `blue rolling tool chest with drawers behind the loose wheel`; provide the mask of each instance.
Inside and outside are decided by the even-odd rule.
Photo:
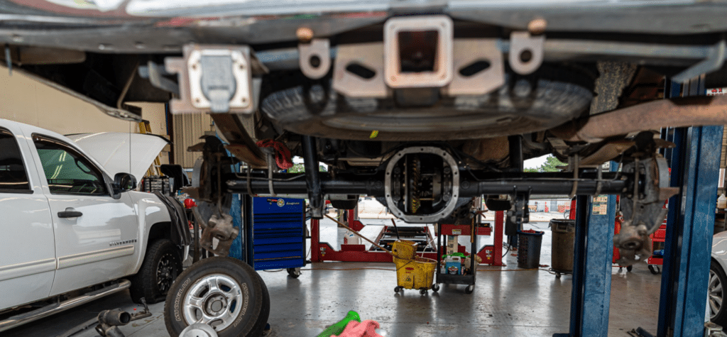
[[[305,266],[305,200],[243,196],[243,259],[255,270]]]

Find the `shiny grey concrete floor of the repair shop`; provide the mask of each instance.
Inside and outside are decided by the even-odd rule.
[[[364,220],[366,235],[378,233],[377,224],[390,220]],[[377,229],[378,227],[378,229]],[[550,230],[547,222],[534,222],[526,228],[545,230],[541,264],[550,264]],[[321,238],[334,243],[340,236],[332,222],[321,225]],[[464,237],[462,237],[464,238]],[[467,240],[468,241],[468,240]],[[481,245],[491,243],[491,238]],[[520,270],[516,256],[508,253],[507,267],[478,269],[475,291],[465,294],[464,285],[443,285],[439,293],[419,295],[418,291],[395,294],[393,264],[342,263],[313,264],[298,279],[286,272],[261,272],[270,291],[270,336],[316,336],[327,325],[341,320],[349,310],[362,320],[376,320],[382,335],[406,336],[552,336],[569,329],[571,277],[560,279],[540,270]],[[609,336],[627,336],[642,327],[656,333],[660,275],[652,275],[646,265],[632,272],[614,267],[611,280]],[[9,330],[4,337],[57,336],[94,317],[103,309],[121,307],[129,312],[140,309],[127,293],[119,293],[57,314],[39,322]],[[121,328],[126,336],[167,336],[164,304],[150,306],[152,317]],[[97,336],[87,330],[74,337]]]

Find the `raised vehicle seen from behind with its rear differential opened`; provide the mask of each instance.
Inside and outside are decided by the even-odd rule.
[[[719,2],[15,0],[0,11],[13,71],[119,118],[140,119],[134,101],[211,113],[225,143],[192,147],[203,160],[188,193],[225,240],[230,193],[308,198],[316,219],[325,199],[353,208],[369,195],[406,222],[452,224],[485,196],[510,230],[528,221],[531,195],[619,194],[614,244],[630,265],[651,254],[678,192],[658,154],[672,144],[651,130],[727,123],[727,97],[662,99],[672,81],[727,84]],[[523,172],[547,154],[567,168]],[[305,174],[280,173],[289,155]],[[238,161],[248,169],[230,171]],[[607,161],[620,171],[601,171]]]

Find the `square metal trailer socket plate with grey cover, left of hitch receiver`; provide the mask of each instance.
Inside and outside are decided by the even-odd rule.
[[[172,113],[252,113],[252,62],[248,46],[188,44],[183,57],[167,57],[166,70],[180,76]]]

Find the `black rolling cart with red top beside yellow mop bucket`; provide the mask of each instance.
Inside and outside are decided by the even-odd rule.
[[[454,224],[437,224],[438,230],[437,230],[437,247],[440,247],[440,251],[437,254],[437,272],[436,272],[436,280],[437,284],[434,285],[433,289],[435,291],[439,290],[438,283],[443,284],[461,284],[461,285],[467,285],[467,288],[465,288],[465,293],[472,293],[475,290],[475,276],[477,275],[477,270],[475,269],[475,256],[477,256],[477,240],[475,240],[475,237],[473,235],[489,235],[490,229],[489,227],[479,227],[478,224],[463,224],[463,225],[454,225]],[[474,230],[473,230],[474,228]],[[473,233],[474,232],[474,233]],[[470,248],[470,274],[469,275],[451,275],[449,274],[448,270],[444,270],[442,272],[442,236],[443,235],[470,235],[470,243],[472,243],[472,248]],[[459,244],[457,244],[459,247]],[[446,250],[445,250],[446,251]]]

